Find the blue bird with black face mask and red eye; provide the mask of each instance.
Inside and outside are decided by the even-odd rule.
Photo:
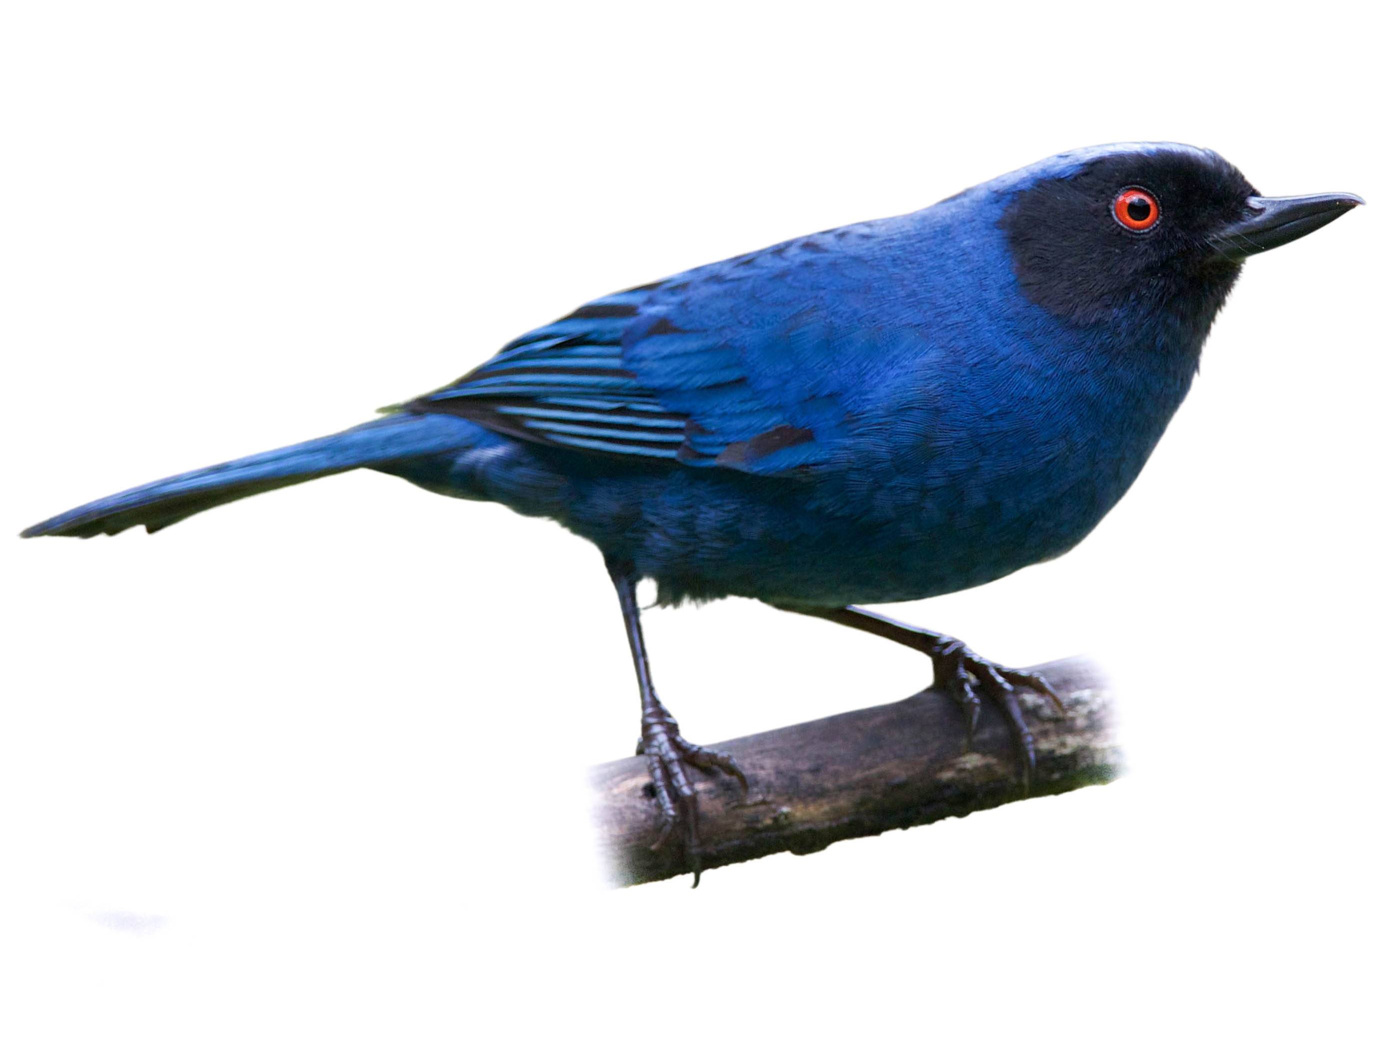
[[[664,845],[699,884],[694,770],[747,791],[657,697],[636,584],[747,597],[922,652],[972,736],[1001,709],[1036,769],[1032,672],[865,609],[1075,547],[1186,397],[1243,262],[1363,204],[1263,196],[1217,153],[1065,151],[901,217],[593,300],[463,378],[317,440],[96,500],[22,536],[157,532],[351,469],[546,516],[617,593]]]

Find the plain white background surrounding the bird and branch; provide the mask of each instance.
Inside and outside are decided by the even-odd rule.
[[[601,887],[582,769],[638,700],[557,526],[353,473],[157,539],[0,540],[0,1033],[1382,1027],[1382,26],[964,7],[6,8],[4,532],[1072,146],[1186,140],[1371,205],[1249,264],[1082,547],[896,608],[1096,657],[1131,776],[697,892]],[[753,602],[646,623],[694,740],[928,675]]]

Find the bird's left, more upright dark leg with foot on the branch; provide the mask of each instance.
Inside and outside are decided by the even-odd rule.
[[[651,786],[656,790],[656,804],[661,811],[661,836],[651,848],[660,849],[675,829],[683,826],[685,856],[690,870],[694,872],[694,884],[699,886],[699,795],[686,768],[697,766],[710,773],[721,770],[738,780],[745,795],[747,777],[733,756],[701,748],[681,737],[675,716],[665,711],[665,705],[656,697],[656,687],[651,686],[651,668],[646,661],[646,640],[642,637],[642,618],[636,607],[636,582],[632,569],[611,559],[607,561],[607,568],[617,589],[618,602],[622,605],[622,622],[632,647],[632,663],[636,666],[636,684],[642,691],[642,740],[636,751],[638,755],[646,755],[646,768],[651,773]]]

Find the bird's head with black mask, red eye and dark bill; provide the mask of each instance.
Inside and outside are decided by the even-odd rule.
[[[1214,151],[1188,144],[1064,153],[995,189],[1007,200],[999,225],[1024,293],[1078,325],[1154,310],[1208,325],[1246,257],[1363,203],[1260,196]]]

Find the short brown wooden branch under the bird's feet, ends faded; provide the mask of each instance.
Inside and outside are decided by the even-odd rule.
[[[840,838],[992,809],[1014,799],[1056,795],[1106,784],[1122,772],[1114,705],[1089,662],[1068,658],[1036,666],[1060,693],[1050,701],[1024,694],[1036,736],[1038,769],[1031,791],[1001,713],[988,701],[972,751],[964,722],[943,693],[739,737],[717,745],[747,772],[745,801],[728,777],[699,770],[704,869],[768,854],[813,854]],[[679,843],[653,851],[660,813],[639,756],[592,770],[596,822],[613,883],[635,886],[688,872]]]

